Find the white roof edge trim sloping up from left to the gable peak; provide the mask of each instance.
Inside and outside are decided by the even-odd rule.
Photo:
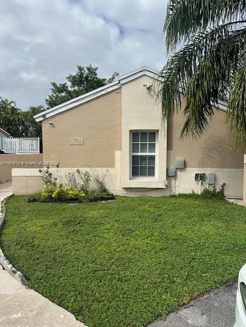
[[[98,98],[107,92],[113,91],[117,88],[120,88],[122,84],[127,83],[131,80],[134,80],[140,76],[146,75],[151,78],[158,79],[158,71],[155,71],[155,69],[143,66],[135,71],[132,71],[128,74],[119,76],[114,82],[107,84],[105,86],[99,87],[96,90],[93,90],[91,92],[88,92],[80,97],[77,97],[75,99],[66,101],[58,106],[55,106],[51,109],[48,109],[46,111],[40,112],[34,116],[36,122],[41,122],[44,119],[50,118],[54,116],[57,113],[63,112],[65,110],[71,109],[75,106],[78,106],[79,104],[85,103],[87,101],[90,101],[92,99]]]

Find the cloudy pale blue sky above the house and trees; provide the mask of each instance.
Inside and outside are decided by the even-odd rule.
[[[50,82],[76,66],[108,78],[166,63],[167,0],[2,0],[0,97],[27,110],[46,105]]]

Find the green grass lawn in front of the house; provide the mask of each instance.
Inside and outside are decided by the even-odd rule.
[[[7,201],[0,243],[29,287],[90,327],[145,326],[235,278],[246,209],[199,196]]]

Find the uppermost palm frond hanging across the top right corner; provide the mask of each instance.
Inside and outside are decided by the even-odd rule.
[[[164,25],[167,50],[213,25],[245,18],[246,0],[169,0]]]

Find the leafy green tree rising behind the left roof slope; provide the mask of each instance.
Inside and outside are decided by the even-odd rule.
[[[70,74],[66,77],[68,82],[61,84],[51,82],[51,95],[46,99],[48,108],[55,107],[111,83],[119,76],[119,73],[115,72],[109,79],[100,78],[97,75],[97,70],[98,67],[92,65],[87,67],[78,65],[76,74]]]

